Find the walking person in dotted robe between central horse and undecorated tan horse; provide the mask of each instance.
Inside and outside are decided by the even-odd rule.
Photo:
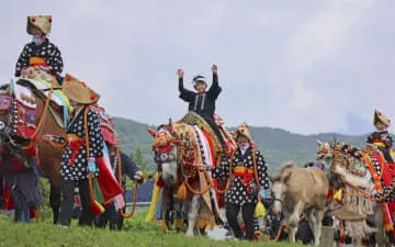
[[[242,233],[237,221],[241,209],[246,238],[252,240],[258,193],[260,189],[269,188],[268,166],[261,153],[256,149],[246,123],[238,127],[236,143],[236,153],[223,158],[221,166],[213,169],[213,177],[226,179],[233,175],[232,186],[225,198],[226,217],[235,237],[241,238]],[[229,162],[232,162],[232,171],[229,171]]]

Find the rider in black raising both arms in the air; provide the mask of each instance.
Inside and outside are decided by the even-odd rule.
[[[218,67],[216,65],[213,65],[212,67],[213,71],[213,83],[210,87],[208,91],[207,89],[207,80],[204,76],[195,76],[193,78],[193,87],[196,90],[196,92],[192,92],[183,87],[183,76],[184,71],[182,69],[179,69],[177,71],[177,75],[179,77],[179,91],[180,91],[180,98],[189,102],[189,111],[192,111],[199,115],[201,115],[208,125],[213,128],[216,136],[218,137],[222,147],[224,151],[226,153],[228,150],[225,139],[222,136],[219,132],[219,127],[215,123],[214,119],[214,112],[215,112],[215,101],[218,98],[222,88],[218,85]]]

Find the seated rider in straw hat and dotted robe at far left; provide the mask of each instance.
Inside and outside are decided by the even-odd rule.
[[[33,36],[33,41],[27,43],[16,61],[15,77],[20,77],[23,70],[30,66],[38,66],[49,75],[56,77],[61,85],[60,76],[64,64],[59,48],[49,42],[47,35],[50,33],[52,15],[27,16],[26,31]]]

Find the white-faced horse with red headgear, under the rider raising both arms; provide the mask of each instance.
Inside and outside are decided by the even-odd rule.
[[[153,149],[158,171],[161,172],[165,183],[163,197],[167,197],[166,192],[169,190],[173,192],[179,190],[179,194],[180,190],[184,191],[185,198],[182,200],[188,213],[185,235],[194,236],[194,228],[214,226],[215,205],[212,203],[212,189],[208,188],[210,178],[203,170],[204,166],[211,166],[207,162],[211,162],[214,154],[207,148],[205,136],[195,126],[172,124],[171,121],[168,125],[159,126],[158,131],[148,130],[148,132],[155,138]],[[163,200],[166,206],[165,202],[166,200]],[[196,233],[200,235],[200,231]]]

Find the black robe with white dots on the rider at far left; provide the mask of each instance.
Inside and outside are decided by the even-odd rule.
[[[31,57],[43,57],[45,63],[50,67],[59,81],[60,74],[64,69],[64,63],[60,50],[56,45],[50,43],[48,40],[45,40],[45,42],[40,45],[36,45],[33,42],[27,43],[23,47],[22,53],[16,61],[15,77],[20,77],[22,69],[29,67],[29,59]]]

